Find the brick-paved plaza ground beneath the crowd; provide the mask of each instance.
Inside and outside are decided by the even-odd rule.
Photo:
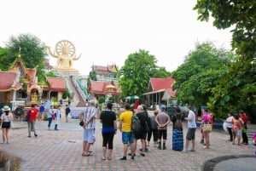
[[[47,122],[37,123],[38,137],[27,137],[26,124],[15,121],[15,129],[9,131],[9,144],[0,144],[0,151],[5,151],[12,157],[11,162],[20,158],[20,171],[54,171],[54,170],[204,170],[204,163],[216,157],[246,155],[244,168],[250,167],[253,158],[254,147],[252,145],[232,145],[228,141],[228,135],[223,132],[213,131],[210,136],[211,149],[202,149],[200,144],[200,130],[196,130],[195,152],[183,153],[172,151],[172,126],[168,128],[167,149],[158,150],[151,142],[149,152],[146,157],[141,157],[137,151],[135,160],[128,157],[127,161],[119,161],[122,157],[123,145],[121,134],[114,137],[113,160],[102,161],[102,134],[101,123],[96,124],[96,143],[92,146],[92,157],[82,157],[82,128],[79,127],[78,120],[64,122],[62,118],[59,131],[47,129]],[[249,125],[250,128],[250,125]],[[186,123],[183,123],[183,135],[187,132]],[[185,137],[185,136],[184,136]],[[1,140],[2,141],[2,140]],[[140,147],[141,144],[139,143]],[[212,170],[236,170],[239,162],[227,161],[215,162]],[[234,163],[233,165],[231,163]],[[229,164],[230,167],[224,167]],[[251,165],[250,165],[251,164]],[[254,165],[255,168],[255,165]],[[241,169],[239,169],[241,170]],[[246,170],[246,169],[243,169]]]

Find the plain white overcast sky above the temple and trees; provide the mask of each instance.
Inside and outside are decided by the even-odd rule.
[[[73,68],[82,75],[88,75],[93,65],[120,68],[139,49],[154,55],[157,66],[175,71],[196,43],[209,41],[217,48],[230,49],[230,30],[197,20],[196,1],[2,1],[0,47],[11,36],[29,33],[53,50],[61,40],[73,43],[77,56],[82,54],[73,61]],[[50,56],[49,62],[56,65]]]

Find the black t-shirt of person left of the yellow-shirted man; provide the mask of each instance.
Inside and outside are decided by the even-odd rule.
[[[113,111],[102,111],[100,119],[102,120],[102,128],[113,128],[113,121],[116,120]]]

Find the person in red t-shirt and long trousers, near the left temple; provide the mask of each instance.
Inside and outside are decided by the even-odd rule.
[[[31,105],[31,109],[27,111],[28,120],[27,120],[27,128],[28,128],[28,137],[31,138],[31,131],[33,129],[35,137],[38,136],[36,133],[35,123],[36,118],[38,116],[38,109],[35,104]]]

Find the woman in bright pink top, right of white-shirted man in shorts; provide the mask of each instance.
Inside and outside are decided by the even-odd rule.
[[[210,124],[210,115],[208,114],[208,109],[203,109],[203,116],[201,118],[201,129],[203,130],[203,137],[204,137],[204,142],[206,145],[204,145],[204,149],[209,149],[210,148],[210,136],[208,131],[204,131],[203,127],[205,124]]]

